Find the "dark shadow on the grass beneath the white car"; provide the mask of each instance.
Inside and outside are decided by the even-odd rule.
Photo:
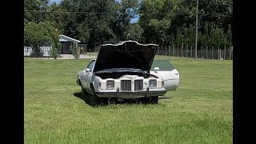
[[[114,104],[114,105],[117,105],[117,104],[123,104],[123,105],[133,105],[133,104],[142,104],[142,105],[151,105],[151,103],[144,103],[142,102],[141,100],[139,99],[129,99],[129,100],[126,100],[126,101],[117,101],[115,99],[110,99],[108,102],[99,102],[97,99],[95,99],[93,97],[93,95],[91,94],[82,94],[82,92],[76,92],[74,93],[74,96],[77,97],[77,98],[81,98],[84,102],[86,102],[86,104],[94,107],[94,106],[107,106],[107,105],[110,105],[110,104]],[[166,99],[166,98],[159,98],[159,99]]]

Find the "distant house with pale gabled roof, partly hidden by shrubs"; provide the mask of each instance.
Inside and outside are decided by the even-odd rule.
[[[72,54],[70,51],[70,46],[72,42],[78,43],[79,47],[83,48],[83,52],[87,51],[87,44],[81,43],[81,41],[70,38],[64,34],[59,35],[59,42],[61,43],[61,49],[60,49],[60,54]],[[41,46],[41,51],[43,53],[43,56],[49,56],[49,50],[51,49],[50,42],[46,42],[44,46]],[[24,56],[30,56],[32,53],[32,49],[30,46],[24,46]]]

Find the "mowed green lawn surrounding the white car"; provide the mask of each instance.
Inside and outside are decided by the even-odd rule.
[[[89,60],[24,58],[24,142],[233,143],[233,62],[170,60],[180,85],[157,105],[92,107],[75,82]]]

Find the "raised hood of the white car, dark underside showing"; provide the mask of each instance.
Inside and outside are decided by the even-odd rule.
[[[150,74],[158,45],[124,41],[102,45],[94,65],[94,73],[113,68],[132,68]]]

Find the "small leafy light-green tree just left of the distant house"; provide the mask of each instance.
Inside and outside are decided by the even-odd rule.
[[[31,56],[42,56],[40,47],[46,42],[51,43],[52,50],[50,54],[56,59],[60,49],[58,30],[50,22],[27,22],[24,26],[24,44],[32,47],[33,53]]]

